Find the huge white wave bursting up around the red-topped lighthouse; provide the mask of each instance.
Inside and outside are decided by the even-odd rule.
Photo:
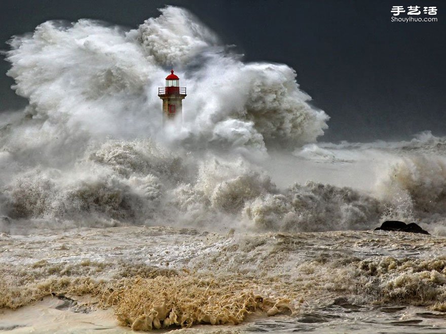
[[[13,37],[8,75],[29,100],[27,112],[55,125],[50,135],[77,127],[94,137],[151,136],[211,147],[263,149],[269,140],[299,145],[323,134],[328,116],[308,105],[294,70],[244,64],[215,49],[216,35],[188,11],[166,7],[161,13],[130,31],[84,19],[45,22],[32,35]],[[206,56],[197,66],[199,53]],[[191,92],[183,129],[168,136],[156,95],[166,62],[180,64]]]

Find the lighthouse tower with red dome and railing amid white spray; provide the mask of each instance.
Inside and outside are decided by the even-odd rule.
[[[173,74],[173,69],[166,77],[166,87],[158,88],[158,96],[163,100],[163,124],[174,119],[181,121],[186,88],[179,87],[179,77]]]

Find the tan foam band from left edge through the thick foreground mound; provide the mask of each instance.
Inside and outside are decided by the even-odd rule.
[[[83,274],[75,277],[66,275],[66,266],[47,261],[21,269],[3,266],[0,308],[17,309],[50,295],[90,296],[99,302],[95,307],[113,307],[121,324],[134,330],[239,324],[256,311],[269,316],[294,311],[289,299],[256,291],[247,277],[210,277],[187,271],[180,275],[150,266],[133,268],[128,275],[121,272],[120,278],[107,281],[87,276],[92,268],[103,270],[104,266],[90,261],[71,265],[71,274]],[[48,276],[49,272],[53,274]],[[60,273],[64,275],[58,276]]]

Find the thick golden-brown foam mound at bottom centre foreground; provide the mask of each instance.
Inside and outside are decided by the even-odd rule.
[[[194,275],[136,278],[110,295],[118,319],[134,330],[194,324],[239,324],[254,311],[275,315],[292,312],[290,300],[256,294],[246,279],[200,278]]]

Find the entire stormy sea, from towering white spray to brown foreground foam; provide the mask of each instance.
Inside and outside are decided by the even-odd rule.
[[[0,118],[0,331],[446,330],[446,138],[324,143],[292,68],[176,7],[10,45],[29,105]],[[188,97],[163,127],[171,64]]]

